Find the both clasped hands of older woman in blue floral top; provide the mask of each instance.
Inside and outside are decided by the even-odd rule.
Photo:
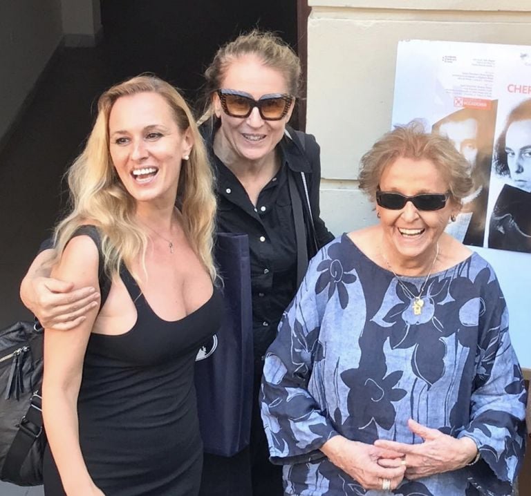
[[[476,443],[469,437],[456,439],[412,419],[408,427],[424,442],[407,444],[378,439],[374,444],[366,444],[336,436],[323,445],[322,451],[365,489],[375,490],[393,490],[404,478],[415,480],[457,470],[476,456]]]

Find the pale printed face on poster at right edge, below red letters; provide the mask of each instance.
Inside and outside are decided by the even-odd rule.
[[[514,185],[531,192],[531,120],[516,121],[507,128],[505,152]]]

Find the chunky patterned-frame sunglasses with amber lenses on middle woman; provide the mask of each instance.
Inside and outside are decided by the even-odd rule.
[[[255,100],[249,93],[236,90],[217,90],[223,112],[231,117],[249,117],[258,107],[260,117],[266,121],[278,121],[290,110],[294,97],[291,95],[263,95]]]

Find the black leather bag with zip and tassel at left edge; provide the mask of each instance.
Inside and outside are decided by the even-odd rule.
[[[42,345],[32,322],[0,331],[0,479],[19,486],[42,484]]]

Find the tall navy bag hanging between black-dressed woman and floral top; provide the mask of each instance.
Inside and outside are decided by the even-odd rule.
[[[218,233],[225,316],[196,359],[199,426],[206,453],[231,457],[248,446],[252,411],[252,296],[247,234]]]

